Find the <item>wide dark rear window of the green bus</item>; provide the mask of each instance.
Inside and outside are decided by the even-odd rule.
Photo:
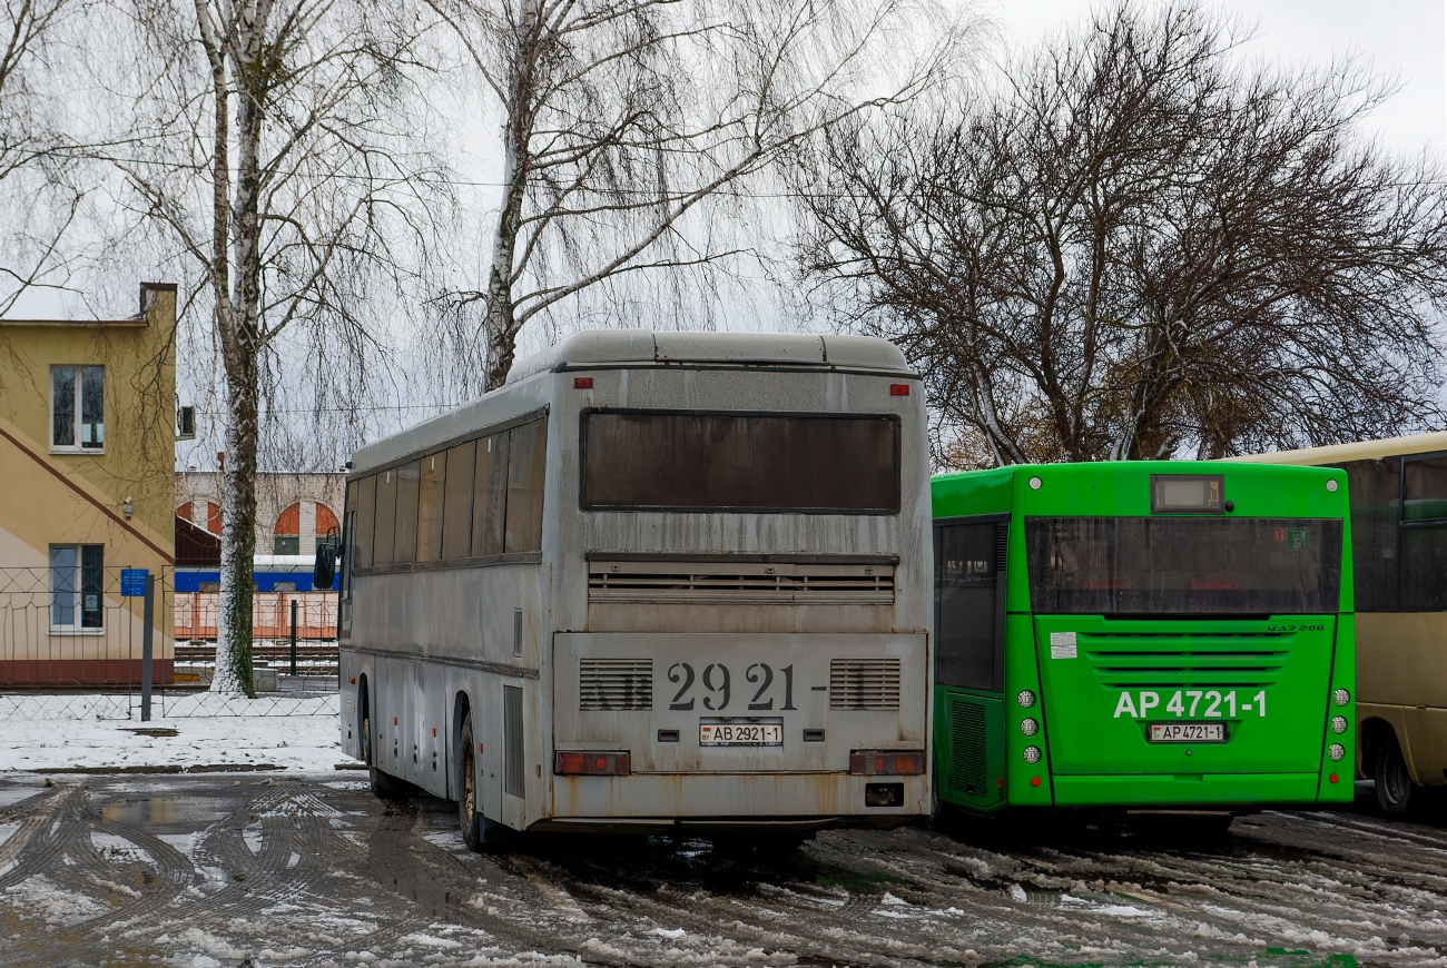
[[[1336,612],[1334,518],[1026,518],[1040,614]]]

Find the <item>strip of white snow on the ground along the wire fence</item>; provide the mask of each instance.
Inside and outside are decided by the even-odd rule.
[[[336,695],[287,705],[210,696],[172,702],[171,716],[156,703],[150,722],[135,710],[130,719],[75,718],[75,696],[27,696],[23,718],[0,722],[0,771],[355,764],[341,752]],[[298,710],[308,715],[284,715]]]

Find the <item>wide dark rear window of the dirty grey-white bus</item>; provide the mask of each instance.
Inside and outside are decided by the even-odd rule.
[[[896,514],[894,417],[583,412],[587,509]]]

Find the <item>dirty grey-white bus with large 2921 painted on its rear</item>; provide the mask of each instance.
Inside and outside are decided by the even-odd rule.
[[[928,815],[922,396],[883,340],[582,333],[363,447],[346,752],[473,848]]]

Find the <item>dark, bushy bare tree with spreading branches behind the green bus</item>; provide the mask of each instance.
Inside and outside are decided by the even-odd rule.
[[[928,372],[954,457],[1217,457],[1440,421],[1440,166],[1360,133],[1391,93],[1369,74],[1249,67],[1240,39],[1195,3],[1124,3],[945,123],[833,132],[807,269]]]

